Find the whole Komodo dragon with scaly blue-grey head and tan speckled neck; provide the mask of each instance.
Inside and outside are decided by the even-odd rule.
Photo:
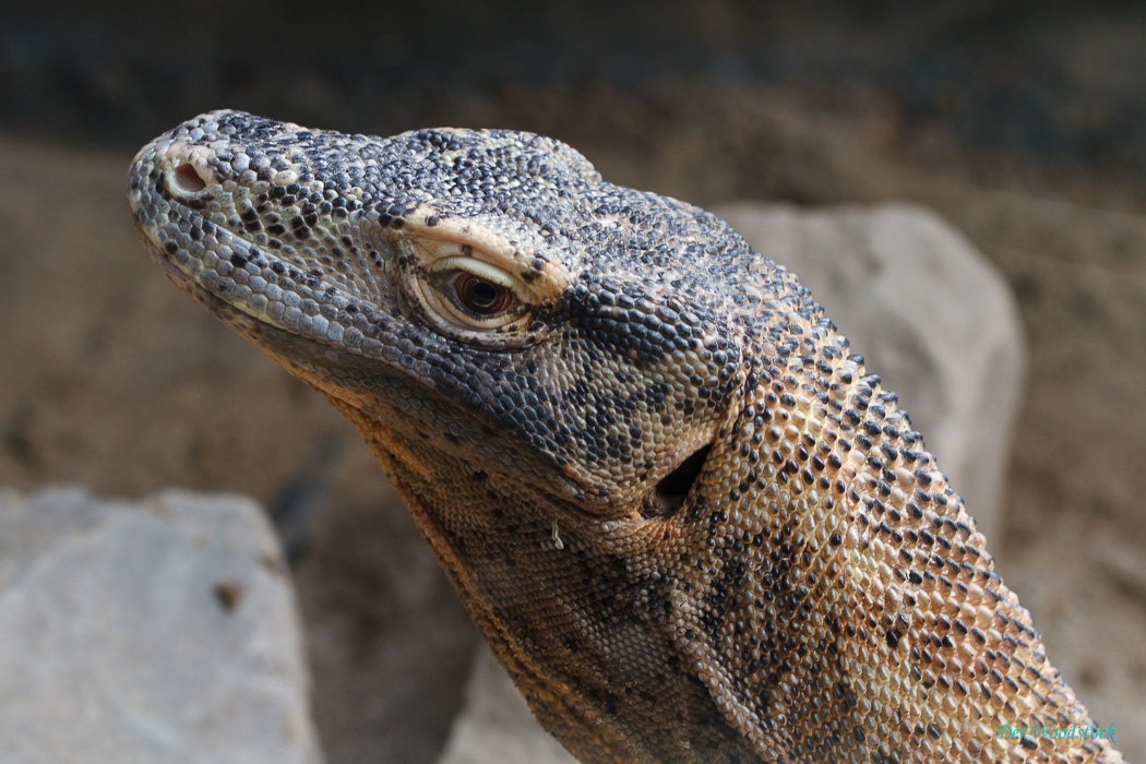
[[[354,423],[581,761],[1122,761],[895,395],[712,214],[527,133],[238,111],[129,200]]]

